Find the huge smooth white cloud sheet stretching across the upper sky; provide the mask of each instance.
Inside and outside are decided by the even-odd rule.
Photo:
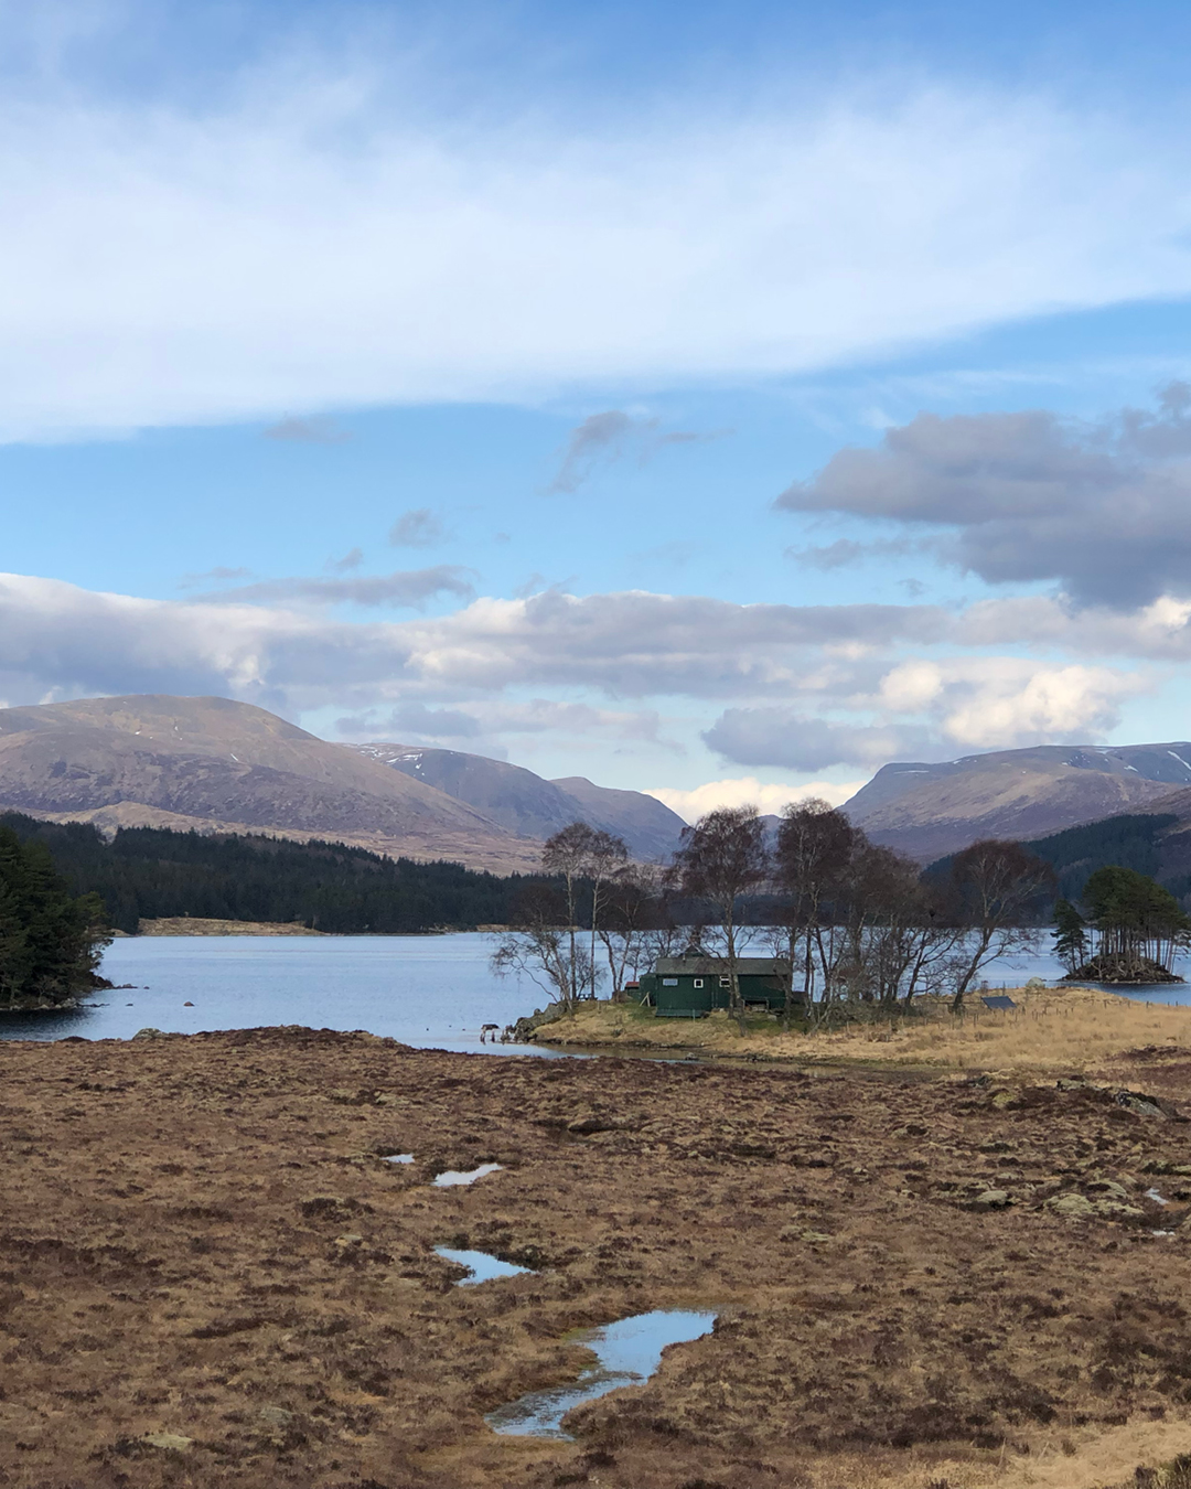
[[[7,435],[308,436],[317,409],[789,372],[1191,289],[1179,130],[922,85],[469,124],[400,116],[408,66],[289,58],[205,112],[9,88]]]

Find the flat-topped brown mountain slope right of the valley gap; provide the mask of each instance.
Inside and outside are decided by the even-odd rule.
[[[1191,786],[1191,744],[1044,744],[884,765],[844,812],[877,843],[930,862],[984,837],[1041,838],[1151,810]],[[1173,810],[1173,809],[1172,809]]]

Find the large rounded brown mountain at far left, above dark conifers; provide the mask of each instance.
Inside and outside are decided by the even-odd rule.
[[[228,698],[3,709],[0,807],[104,825],[328,837],[502,873],[533,867],[524,844],[464,803]]]

